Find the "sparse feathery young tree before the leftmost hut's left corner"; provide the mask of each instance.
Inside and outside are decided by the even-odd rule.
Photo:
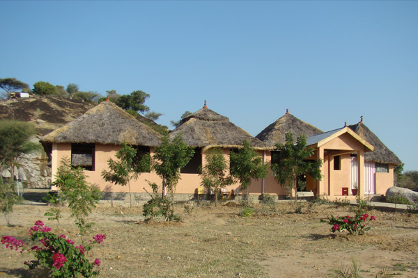
[[[88,214],[100,200],[99,188],[88,183],[82,168],[72,167],[68,158],[61,161],[54,184],[59,188],[63,201],[68,202],[70,216],[76,219],[75,224],[84,236],[92,224],[87,221]]]

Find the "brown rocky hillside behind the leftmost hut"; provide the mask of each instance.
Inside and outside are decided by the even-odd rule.
[[[39,139],[54,129],[83,115],[94,104],[83,101],[60,99],[56,97],[29,97],[0,100],[0,120],[20,120],[33,122]],[[23,188],[49,188],[51,186],[50,150],[20,157],[20,167],[15,167],[15,180],[18,192]],[[0,173],[10,177],[10,170]]]

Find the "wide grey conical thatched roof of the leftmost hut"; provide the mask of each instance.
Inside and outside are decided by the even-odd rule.
[[[160,134],[136,120],[116,104],[103,101],[76,120],[52,131],[43,142],[83,142],[155,147],[160,145]]]

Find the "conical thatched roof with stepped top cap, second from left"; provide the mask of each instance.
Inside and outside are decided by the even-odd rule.
[[[182,133],[183,141],[192,147],[240,147],[242,141],[249,140],[254,149],[267,149],[263,142],[229,122],[228,117],[206,108],[206,105],[185,117],[170,136],[179,133]]]

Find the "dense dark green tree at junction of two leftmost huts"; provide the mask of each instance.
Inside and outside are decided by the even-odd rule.
[[[183,136],[178,134],[170,140],[169,135],[162,137],[161,145],[155,148],[151,168],[162,178],[162,197],[168,189],[172,197],[180,179],[180,169],[185,167],[194,154],[193,147],[187,147]]]

